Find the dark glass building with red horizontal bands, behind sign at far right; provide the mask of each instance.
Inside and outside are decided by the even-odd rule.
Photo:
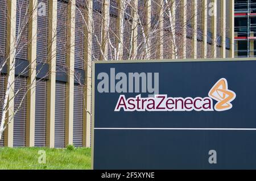
[[[235,56],[255,57],[256,1],[234,2],[235,9]]]

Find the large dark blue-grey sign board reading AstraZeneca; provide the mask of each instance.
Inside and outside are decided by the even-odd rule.
[[[93,64],[93,169],[256,169],[256,61]]]

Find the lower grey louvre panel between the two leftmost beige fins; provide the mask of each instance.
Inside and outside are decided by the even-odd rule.
[[[20,103],[22,104],[19,108],[19,111],[16,112],[14,116],[13,146],[26,146],[27,79],[23,77],[16,77],[14,91],[15,94],[18,92],[14,98],[14,111],[17,110]]]

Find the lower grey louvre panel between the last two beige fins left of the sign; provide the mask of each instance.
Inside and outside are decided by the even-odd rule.
[[[83,94],[82,87],[74,86],[74,118],[73,118],[73,145],[82,146],[82,122],[83,122]]]

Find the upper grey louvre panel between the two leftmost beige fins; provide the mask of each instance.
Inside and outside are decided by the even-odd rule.
[[[17,0],[16,9],[16,38],[19,35],[16,58],[27,60],[28,43],[28,0]],[[26,45],[24,45],[26,44]]]

